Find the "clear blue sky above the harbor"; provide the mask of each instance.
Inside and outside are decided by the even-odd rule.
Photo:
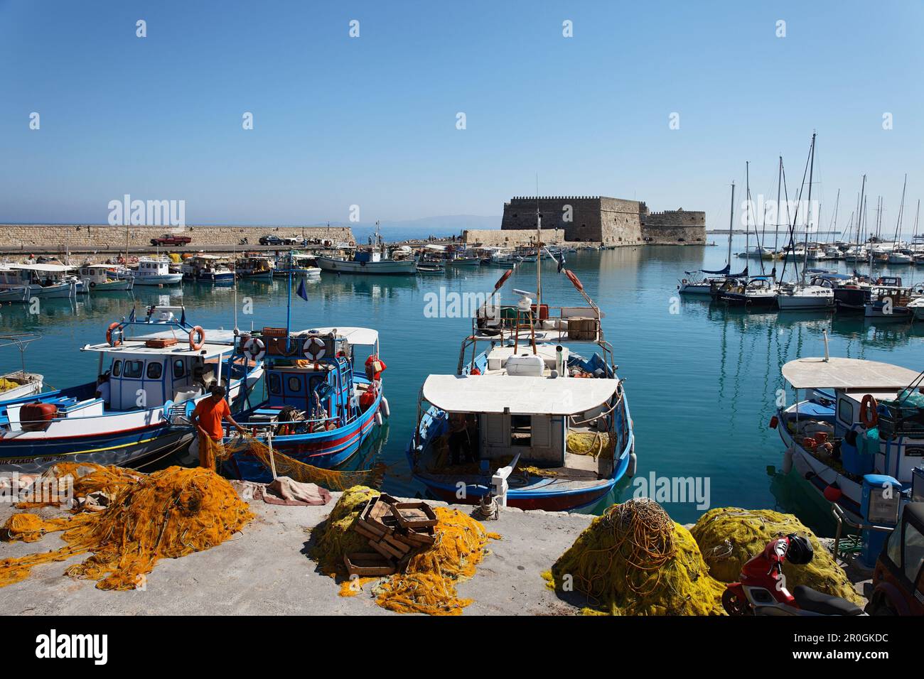
[[[894,215],[904,173],[924,195],[922,19],[910,1],[0,0],[0,221],[104,223],[125,193],[186,200],[191,224],[499,215],[538,173],[542,194],[722,226],[745,161],[775,197],[783,153],[792,190],[813,129],[822,210],[841,188],[845,219],[866,173]]]

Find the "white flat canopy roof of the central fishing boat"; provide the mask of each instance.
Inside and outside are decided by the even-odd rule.
[[[428,403],[450,413],[572,415],[600,406],[618,380],[514,375],[431,375],[423,383]]]

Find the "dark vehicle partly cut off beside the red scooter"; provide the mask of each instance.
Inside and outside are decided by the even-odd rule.
[[[870,615],[924,615],[924,503],[908,503],[872,574]]]

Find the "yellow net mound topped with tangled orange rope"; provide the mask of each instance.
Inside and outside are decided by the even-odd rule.
[[[709,575],[696,541],[648,498],[595,518],[547,576],[555,590],[586,597],[589,612],[723,614],[724,587]]]

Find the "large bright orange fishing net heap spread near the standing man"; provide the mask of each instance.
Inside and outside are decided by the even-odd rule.
[[[71,476],[77,496],[93,489],[107,493],[111,500],[102,511],[63,518],[11,516],[0,529],[0,539],[34,541],[64,531],[61,537],[67,544],[53,552],[0,561],[0,587],[25,579],[33,566],[90,552],[65,573],[97,580],[100,589],[134,589],[158,560],[208,550],[253,518],[231,484],[202,467],[169,467],[143,475],[82,464],[58,465],[52,473],[61,480]],[[79,508],[79,504],[74,507]]]

